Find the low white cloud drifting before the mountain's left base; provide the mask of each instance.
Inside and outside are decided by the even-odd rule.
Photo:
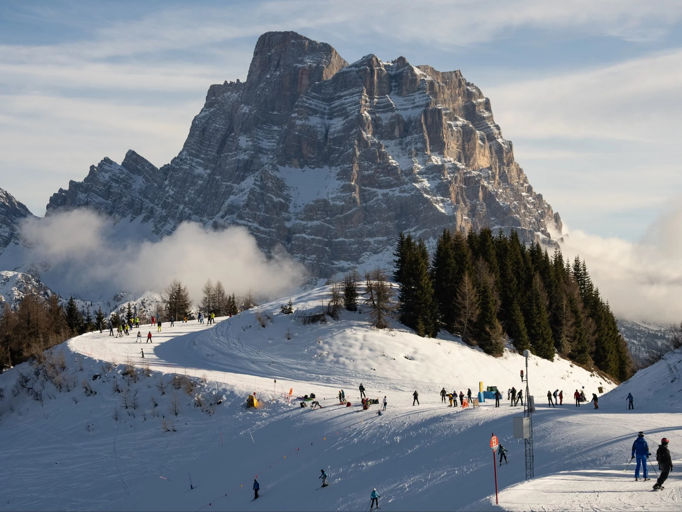
[[[183,223],[158,241],[134,240],[129,234],[123,238],[120,231],[88,210],[33,218],[22,227],[33,260],[51,267],[46,284],[83,298],[103,294],[106,300],[121,290],[162,291],[175,278],[187,285],[195,302],[207,278],[222,281],[229,293],[252,289],[273,297],[298,285],[303,276],[303,267],[284,251],[267,257],[242,227],[210,231]]]

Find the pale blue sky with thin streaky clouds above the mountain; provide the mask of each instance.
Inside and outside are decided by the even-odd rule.
[[[679,1],[0,3],[0,186],[35,214],[129,148],[175,156],[212,83],[295,30],[460,69],[569,229],[636,242],[682,193]]]

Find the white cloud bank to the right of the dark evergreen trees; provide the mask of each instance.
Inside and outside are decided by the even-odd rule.
[[[682,198],[636,244],[583,231],[564,237],[564,256],[587,261],[592,280],[617,317],[682,321]]]

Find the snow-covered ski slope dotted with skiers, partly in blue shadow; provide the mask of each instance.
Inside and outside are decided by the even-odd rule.
[[[313,309],[327,294],[321,288],[294,296],[294,307]],[[157,333],[143,326],[153,345],[106,332],[71,339],[54,353],[65,356],[61,382],[76,386],[67,392],[62,384],[60,393],[33,379],[27,387],[44,386],[42,403],[27,390],[11,392],[29,365],[0,375],[0,510],[364,510],[373,487],[385,510],[485,510],[494,507],[492,432],[509,450],[509,464],[498,471],[505,509],[679,509],[676,473],[654,493],[653,482],[634,483],[632,471],[621,471],[640,429],[650,433],[652,450],[655,440],[670,438],[677,459],[682,427],[669,395],[680,386],[668,378],[677,371],[670,358],[604,396],[598,411],[575,408],[568,397],[581,386],[591,396],[597,386],[612,390],[614,384],[566,360],[531,358],[539,407],[536,479],[524,483],[523,444],[512,437],[511,419],[522,408],[506,400],[507,388],[521,384],[521,356],[490,358],[456,338],[424,339],[399,324],[374,330],[365,313],[342,311],[338,321],[303,326],[280,313],[284,302],[212,328],[164,324]],[[153,375],[127,383],[120,375],[127,360],[138,368],[148,363]],[[109,370],[106,361],[117,366]],[[93,373],[102,376],[92,380]],[[172,386],[162,395],[158,379],[168,380],[169,373],[194,380],[192,395]],[[96,395],[84,395],[83,380]],[[505,390],[501,408],[440,403],[443,386],[475,393],[479,381]],[[114,382],[123,393],[113,391]],[[369,397],[387,396],[385,414],[376,415],[378,406],[357,406],[360,382]],[[315,393],[324,408],[287,404],[289,388],[294,397]],[[352,407],[337,405],[340,388]],[[563,389],[565,405],[548,409],[547,390],[556,388]],[[420,406],[412,405],[415,389]],[[194,406],[194,395],[205,400],[216,390],[222,403],[208,407],[214,414]],[[247,410],[254,390],[263,407]],[[636,397],[634,412],[625,409],[628,390]],[[177,416],[168,410],[174,393]],[[162,421],[171,431],[163,431]],[[329,474],[324,489],[318,489],[321,469]],[[261,497],[251,502],[256,475]]]

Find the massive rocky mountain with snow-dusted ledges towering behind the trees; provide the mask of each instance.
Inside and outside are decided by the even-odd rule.
[[[183,221],[242,225],[319,276],[390,253],[399,231],[561,233],[490,100],[459,71],[374,55],[349,64],[293,32],[261,35],[245,83],[211,85],[170,164],[105,158],[47,208],[83,206],[160,236]]]

